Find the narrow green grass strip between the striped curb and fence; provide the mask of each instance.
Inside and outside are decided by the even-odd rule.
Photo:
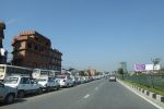
[[[152,93],[155,93],[155,94],[164,96],[164,89],[156,89],[156,88],[153,88],[153,87],[150,87],[150,86],[145,86],[145,85],[142,85],[142,84],[138,84],[138,83],[134,83],[134,82],[131,82],[131,81],[124,81],[124,82],[129,83],[131,85],[136,85],[136,86],[141,87],[141,88],[143,88],[145,90],[150,90]]]

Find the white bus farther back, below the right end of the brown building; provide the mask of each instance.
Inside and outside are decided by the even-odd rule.
[[[60,71],[34,69],[32,76],[33,76],[33,78],[39,78],[42,76],[56,76],[59,74],[60,74]]]

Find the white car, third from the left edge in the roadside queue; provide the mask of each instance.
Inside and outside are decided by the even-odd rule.
[[[50,77],[50,76],[44,76],[44,77],[39,77],[37,78],[38,84],[42,85],[43,89],[46,89],[47,92],[49,92],[50,89],[59,89],[60,88],[60,84],[58,83],[58,81],[55,77]]]

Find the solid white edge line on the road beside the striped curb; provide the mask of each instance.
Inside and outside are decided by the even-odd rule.
[[[119,82],[119,81],[118,81]],[[149,100],[148,98],[145,98],[144,96],[138,94],[137,92],[134,92],[133,89],[131,89],[129,86],[125,85],[124,83],[119,82],[121,85],[124,85],[125,87],[127,87],[129,90],[131,90],[132,93],[134,93],[136,95],[138,95],[139,97],[141,97],[142,99],[147,100],[148,102],[150,102],[151,105],[153,105],[154,107],[159,108],[159,109],[163,109],[163,107],[156,105],[155,102]]]

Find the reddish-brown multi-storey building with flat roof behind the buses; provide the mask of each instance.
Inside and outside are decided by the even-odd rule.
[[[35,31],[13,38],[13,65],[61,71],[62,53],[51,48],[50,39]]]

